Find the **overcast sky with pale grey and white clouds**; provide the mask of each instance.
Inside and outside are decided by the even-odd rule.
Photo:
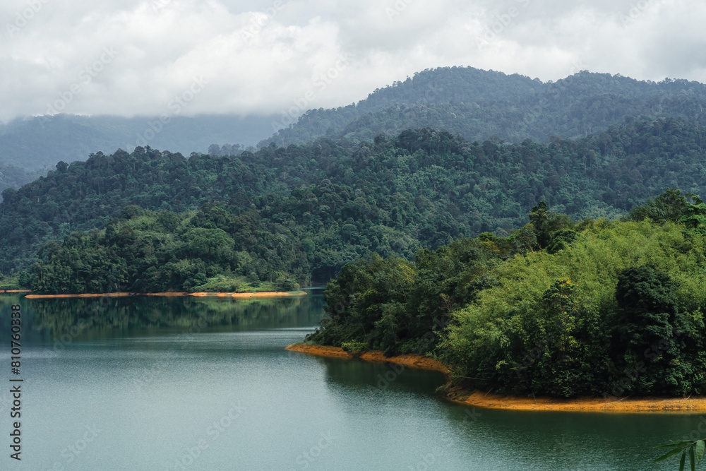
[[[273,114],[416,71],[579,70],[706,82],[706,2],[3,0],[0,120]]]

